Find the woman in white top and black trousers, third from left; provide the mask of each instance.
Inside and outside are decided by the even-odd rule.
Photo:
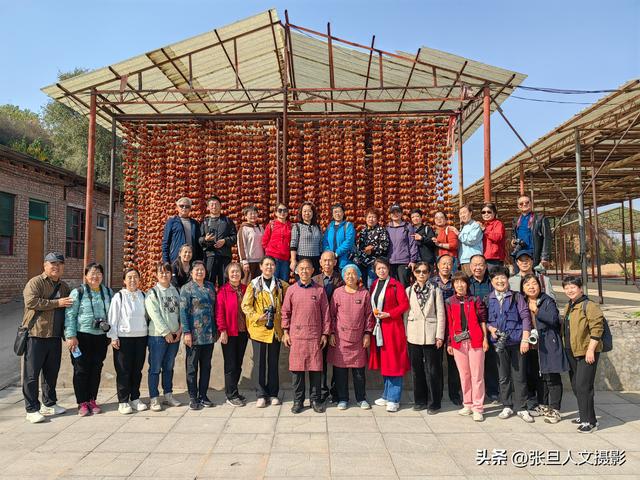
[[[113,347],[113,365],[116,369],[118,411],[129,414],[133,410],[146,410],[140,401],[142,367],[147,354],[147,320],[144,293],[138,289],[140,273],[135,268],[124,271],[125,288],[113,296],[109,308],[107,333]]]

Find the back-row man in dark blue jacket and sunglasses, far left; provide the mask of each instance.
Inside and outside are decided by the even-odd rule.
[[[169,217],[164,225],[162,235],[162,261],[173,263],[182,245],[190,245],[193,250],[193,259],[200,260],[200,225],[189,216],[191,213],[191,199],[182,197],[177,202],[178,214]]]

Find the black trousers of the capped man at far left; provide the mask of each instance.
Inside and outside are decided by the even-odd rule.
[[[27,338],[27,350],[22,364],[22,395],[27,413],[40,410],[38,382],[42,373],[42,403],[46,407],[58,401],[56,383],[60,371],[62,341],[60,337]]]

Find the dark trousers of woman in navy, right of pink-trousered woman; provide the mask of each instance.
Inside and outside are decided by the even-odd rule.
[[[506,346],[498,352],[500,401],[514,411],[527,409],[527,356],[520,345]]]

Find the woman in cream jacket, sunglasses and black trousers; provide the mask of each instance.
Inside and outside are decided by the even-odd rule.
[[[416,281],[407,287],[409,310],[405,313],[409,359],[413,375],[414,410],[434,414],[442,402],[442,355],[445,308],[442,291],[428,281],[431,267],[418,262]]]

